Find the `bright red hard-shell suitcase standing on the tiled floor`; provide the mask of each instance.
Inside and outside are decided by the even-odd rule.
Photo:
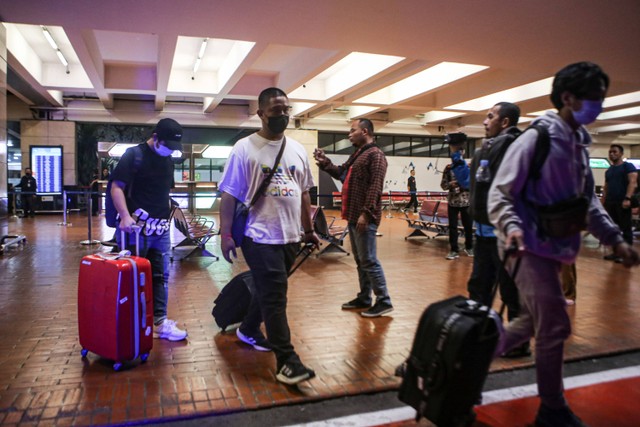
[[[140,357],[145,362],[153,346],[152,288],[146,258],[128,252],[82,258],[78,278],[82,357],[91,351],[113,360],[116,371],[125,361]]]

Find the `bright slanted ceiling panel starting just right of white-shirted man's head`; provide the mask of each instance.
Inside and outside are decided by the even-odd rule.
[[[404,58],[353,52],[289,94],[290,98],[325,101],[386,70]]]

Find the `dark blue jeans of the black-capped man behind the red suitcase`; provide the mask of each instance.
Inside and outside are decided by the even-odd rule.
[[[120,244],[120,229],[116,229],[116,241]],[[136,253],[135,233],[126,234],[126,249]],[[167,302],[169,301],[169,256],[171,236],[169,232],[158,236],[146,236],[140,233],[140,256],[151,264],[151,280],[153,283],[153,323],[159,324],[167,318]]]

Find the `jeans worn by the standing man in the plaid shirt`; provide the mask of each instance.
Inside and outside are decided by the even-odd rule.
[[[360,292],[358,299],[365,304],[371,303],[371,293],[376,296],[376,303],[391,305],[382,265],[376,256],[376,233],[378,226],[370,223],[363,233],[356,231],[356,224],[349,224],[349,240],[353,258],[356,260]]]

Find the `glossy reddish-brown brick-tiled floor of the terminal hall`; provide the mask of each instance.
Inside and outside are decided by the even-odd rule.
[[[301,387],[274,379],[275,358],[220,334],[212,301],[242,259],[194,258],[172,264],[169,316],[188,340],[155,340],[149,360],[114,372],[90,354],[80,357],[77,274],[81,257],[109,248],[88,240],[87,217],[11,218],[2,234],[24,234],[27,244],[0,256],[0,424],[91,425],[166,420],[269,407],[397,388],[394,369],[409,352],[417,320],[431,302],[466,293],[472,259],[444,259],[448,242],[404,239],[406,222],[385,218],[378,255],[395,311],[364,319],[340,310],[357,292],[352,256],[310,258],[291,277],[288,316],[293,344],[317,378]],[[94,217],[93,239],[113,230]],[[180,241],[179,236],[174,236]],[[348,241],[347,241],[348,244]],[[577,263],[577,304],[568,308],[573,335],[566,358],[640,348],[640,269],[604,261],[604,248],[587,240]],[[219,255],[213,238],[208,249]],[[531,358],[496,360],[492,370],[530,365]]]

